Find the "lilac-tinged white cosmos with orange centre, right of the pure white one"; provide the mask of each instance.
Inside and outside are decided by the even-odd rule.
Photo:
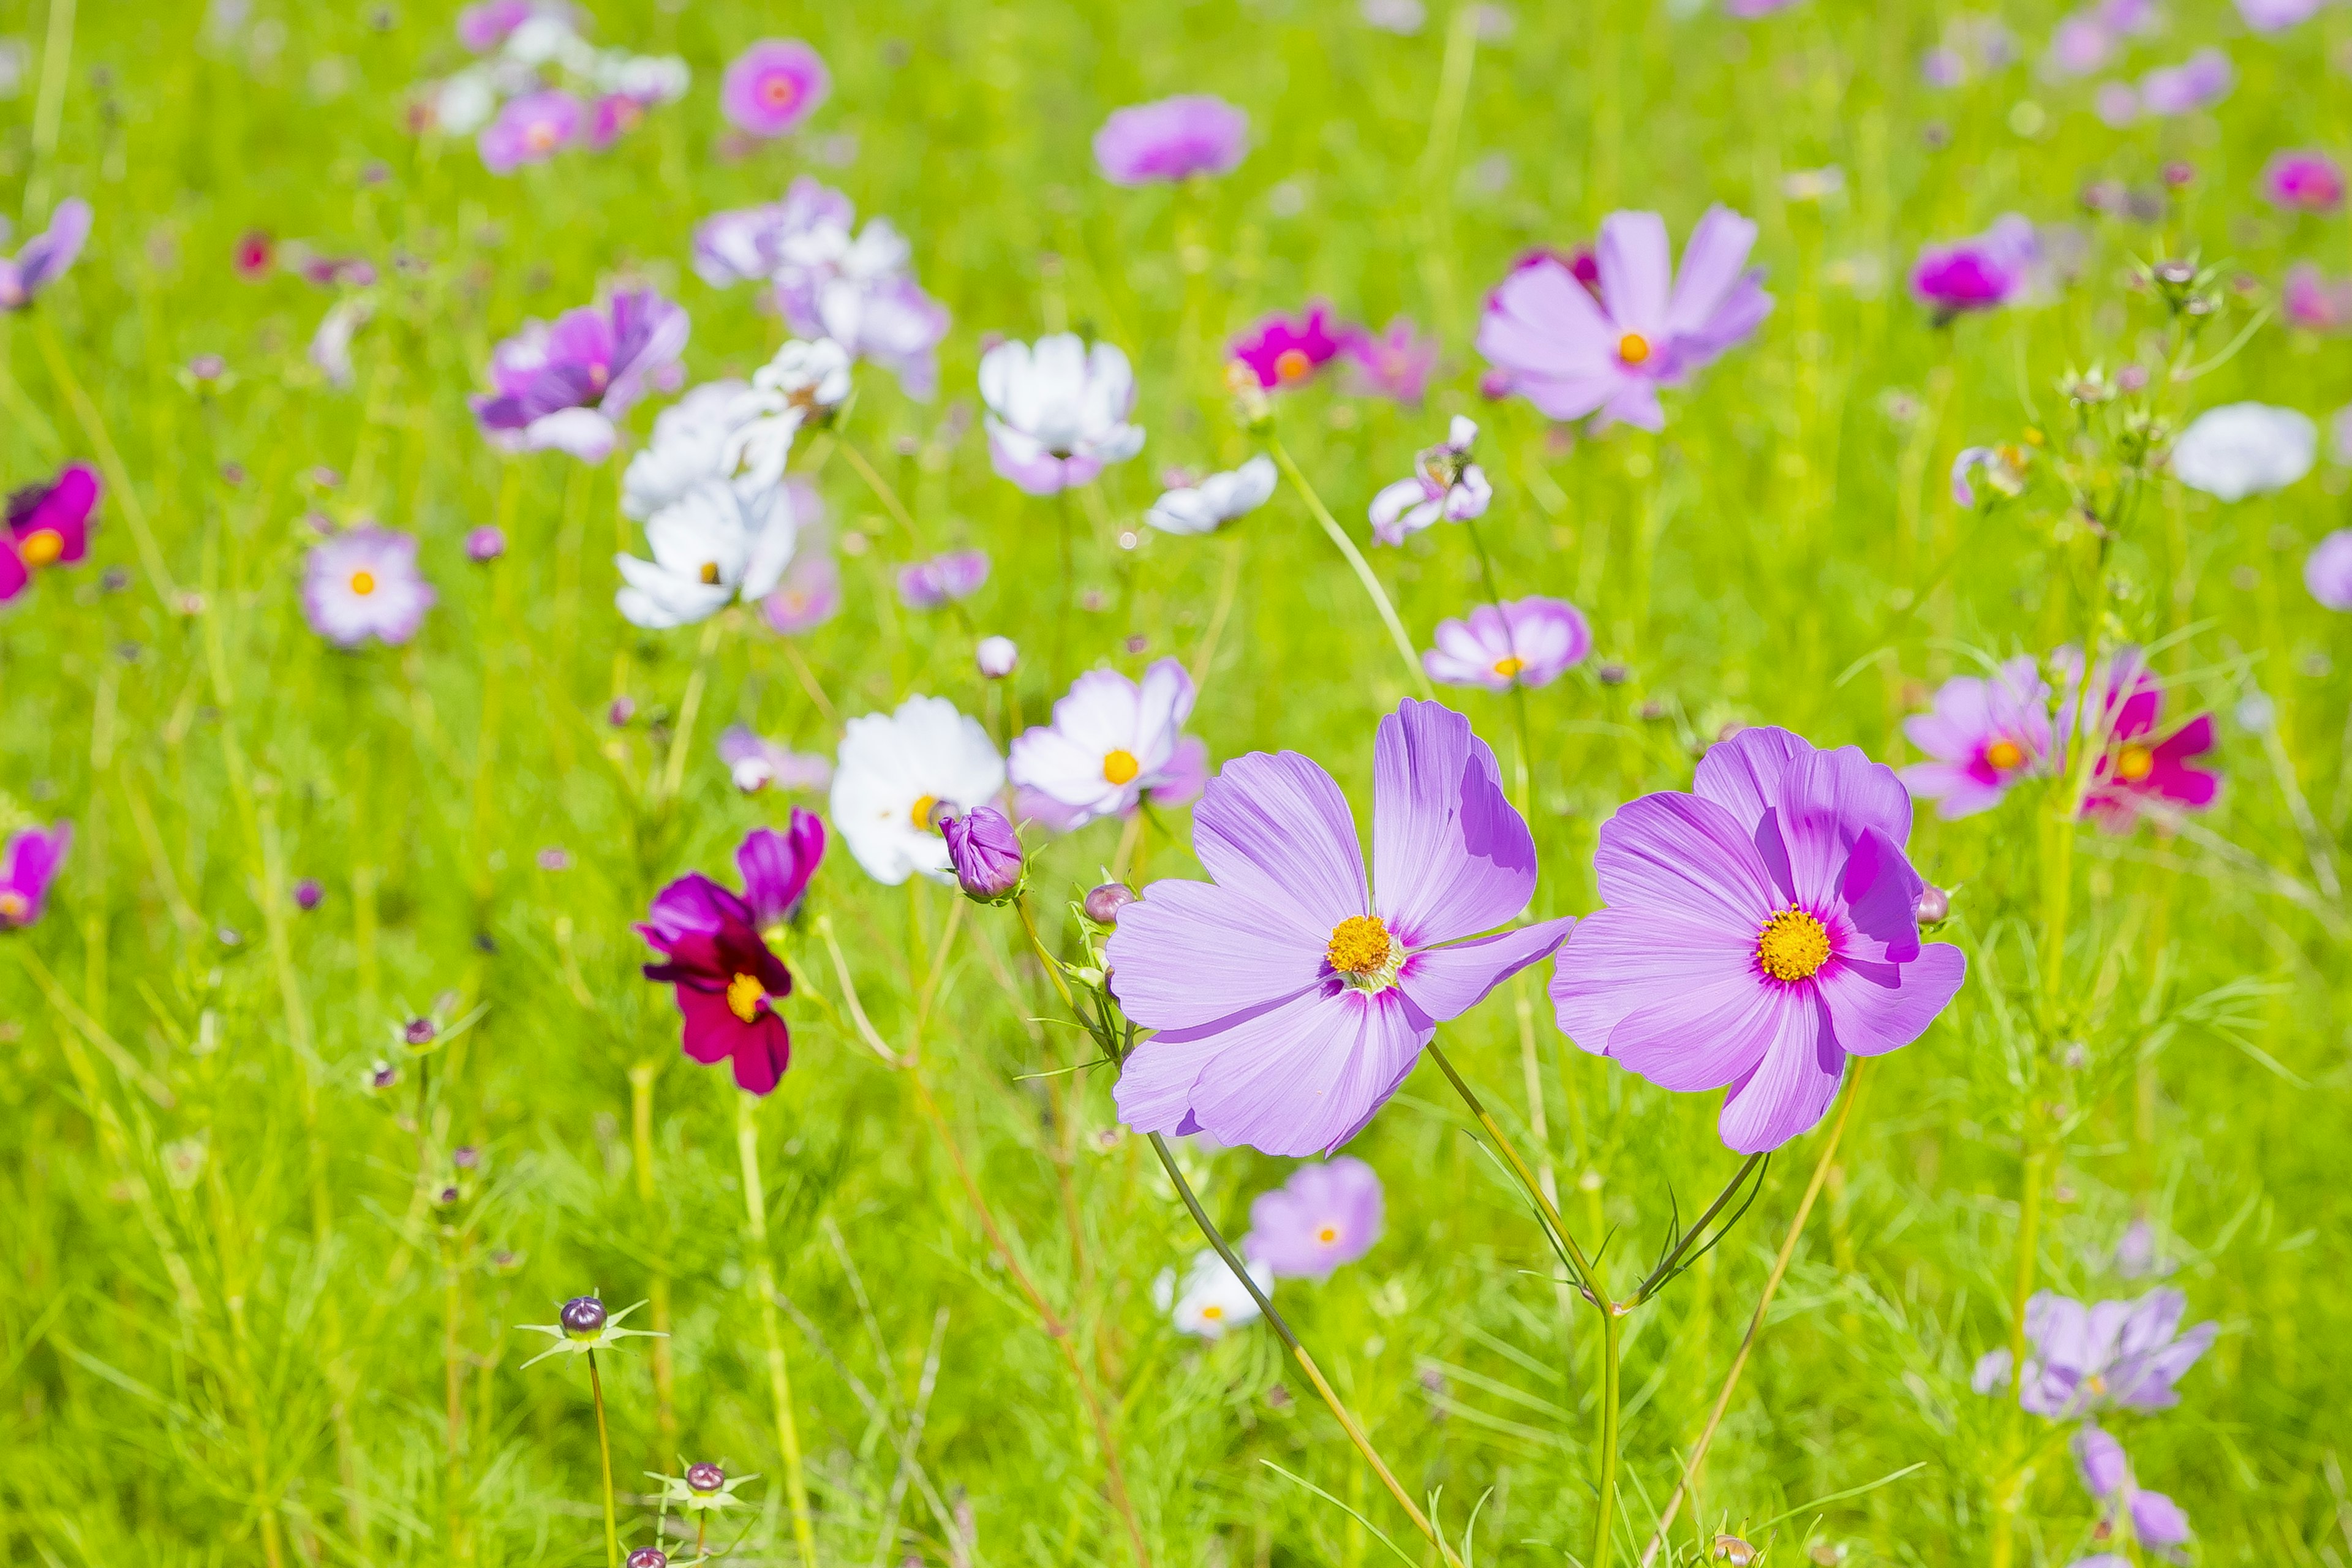
[[[1152,661],[1141,682],[1117,670],[1080,675],[1054,703],[1054,722],[1011,745],[1007,776],[1021,813],[1068,832],[1127,816],[1145,792],[1162,806],[1188,804],[1207,771],[1207,745],[1183,733],[1192,698],[1176,658]]]

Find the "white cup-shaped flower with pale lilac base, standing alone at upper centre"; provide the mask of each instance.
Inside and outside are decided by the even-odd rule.
[[[1143,425],[1127,423],[1136,376],[1112,343],[1089,348],[1075,331],[997,343],[981,355],[981,400],[988,461],[1033,496],[1087,484],[1143,451]]]

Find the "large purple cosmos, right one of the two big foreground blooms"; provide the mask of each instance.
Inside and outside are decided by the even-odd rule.
[[[1602,825],[1609,907],[1559,950],[1552,1001],[1578,1046],[1661,1088],[1729,1088],[1717,1128],[1757,1154],[1820,1121],[1846,1056],[1919,1039],[1966,959],[1919,940],[1893,769],[1743,729],[1691,790]]]

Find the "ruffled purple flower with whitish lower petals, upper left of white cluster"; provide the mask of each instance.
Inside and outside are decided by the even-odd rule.
[[[647,390],[675,386],[689,327],[687,313],[652,289],[564,310],[553,327],[527,322],[489,355],[496,390],[470,400],[473,416],[506,451],[602,463],[621,440],[614,421]]]

